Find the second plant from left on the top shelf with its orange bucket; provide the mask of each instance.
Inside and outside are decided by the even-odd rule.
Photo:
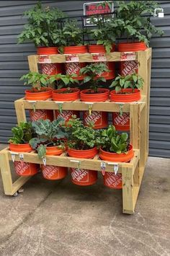
[[[83,80],[84,76],[80,74],[80,69],[86,66],[86,63],[72,60],[78,53],[87,53],[86,45],[82,42],[82,30],[78,27],[76,20],[66,21],[63,25],[63,37],[65,44],[63,45],[63,53],[66,54],[66,74],[76,74],[77,80]],[[77,57],[76,57],[77,58]]]

